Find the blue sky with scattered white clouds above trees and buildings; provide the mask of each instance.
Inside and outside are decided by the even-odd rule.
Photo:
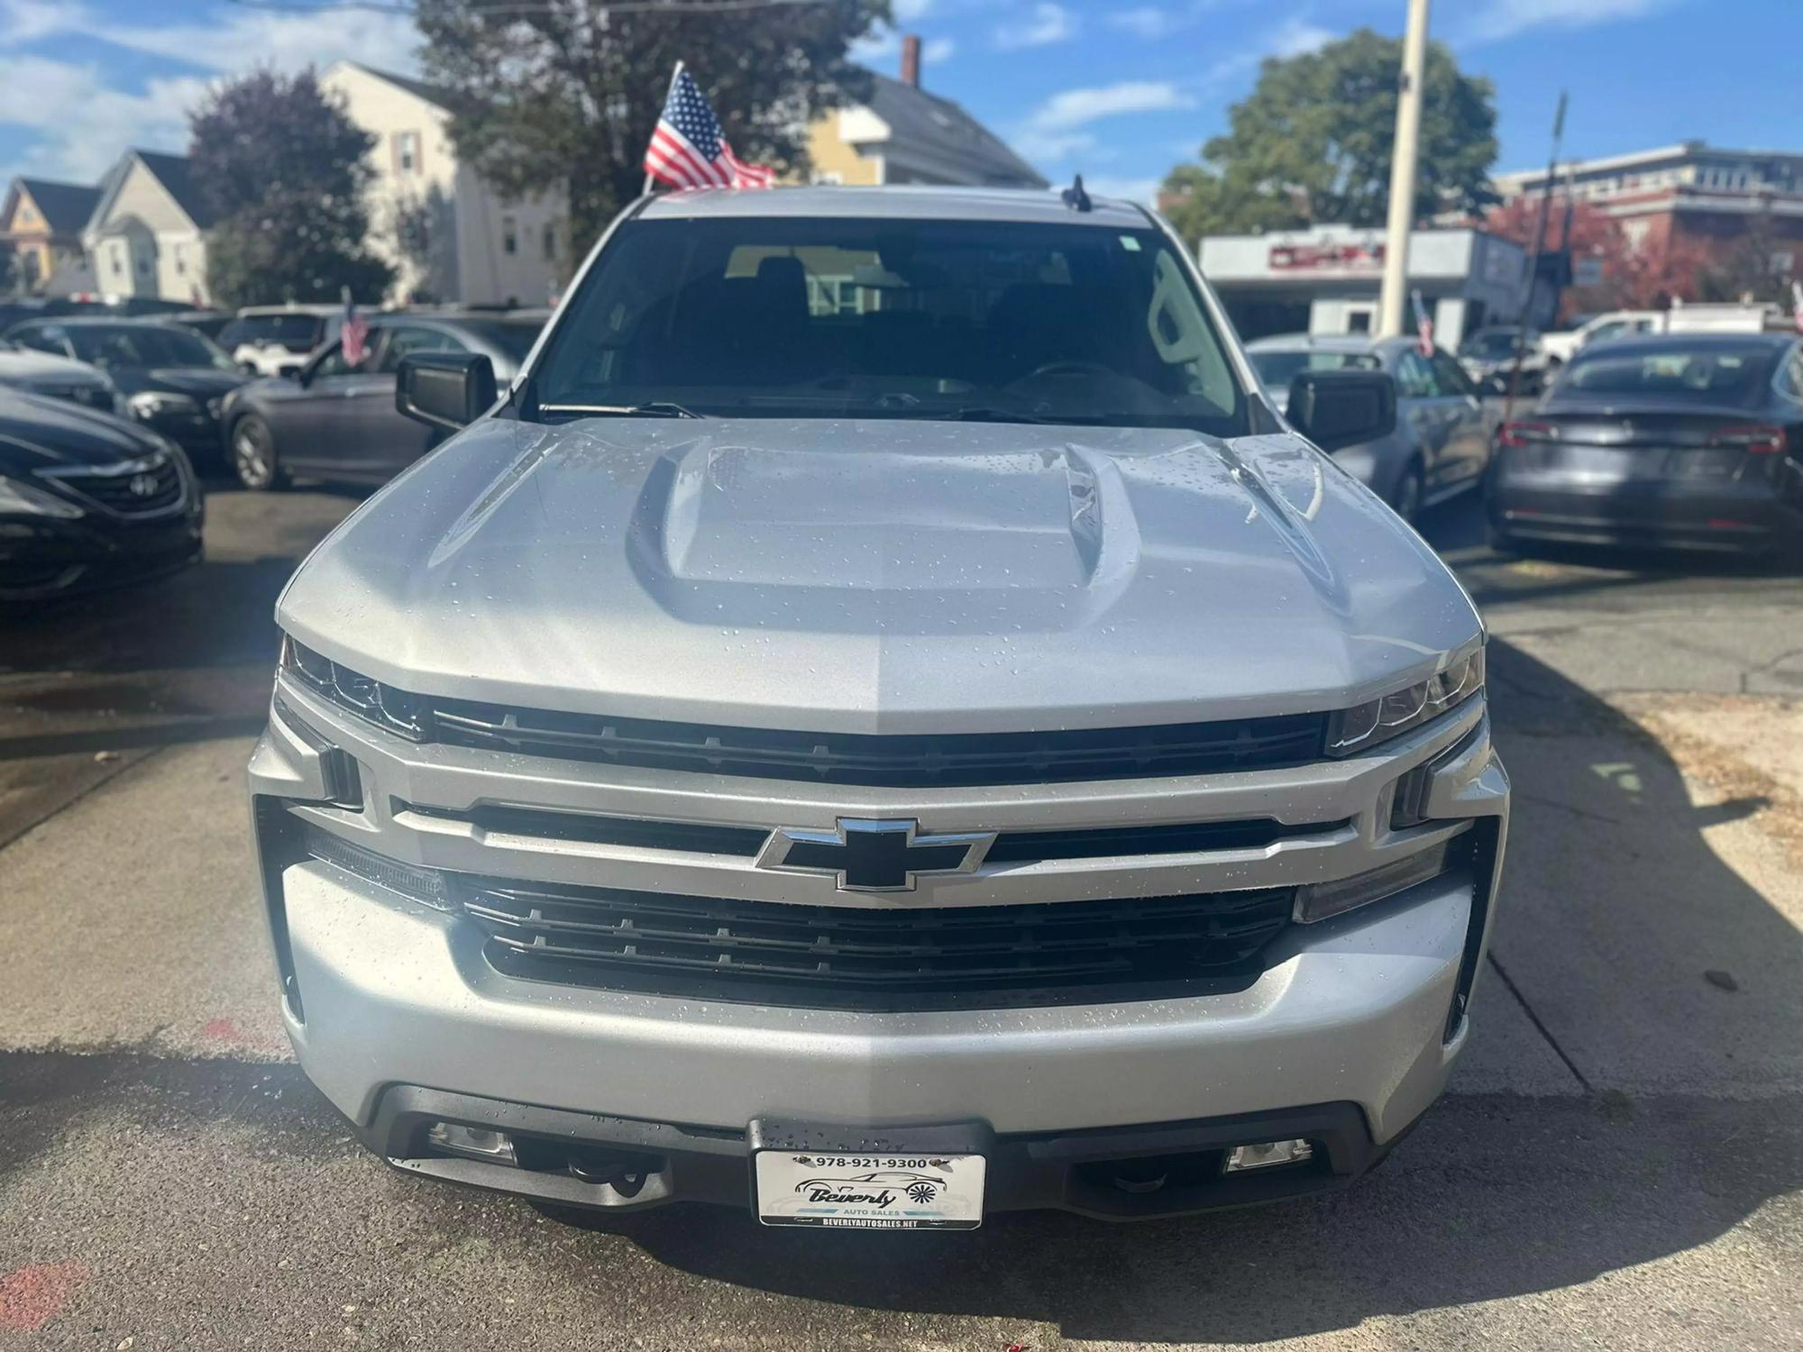
[[[413,69],[404,16],[285,2],[0,0],[0,182],[92,180],[126,144],[180,150],[207,81],[258,61]],[[927,87],[1049,178],[1082,171],[1147,196],[1224,126],[1262,56],[1361,25],[1399,32],[1405,0],[894,0],[894,11],[900,31],[927,40]],[[1437,0],[1433,36],[1496,83],[1498,169],[1545,159],[1560,87],[1572,92],[1569,153],[1689,137],[1803,150],[1803,0]],[[896,47],[896,32],[878,34],[862,56],[892,74]]]

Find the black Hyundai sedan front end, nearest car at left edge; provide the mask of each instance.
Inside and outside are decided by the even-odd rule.
[[[144,427],[0,389],[0,613],[200,559],[188,458]]]

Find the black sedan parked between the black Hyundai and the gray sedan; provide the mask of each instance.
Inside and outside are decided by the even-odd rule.
[[[211,339],[164,319],[36,319],[7,330],[22,348],[97,366],[128,416],[202,463],[224,460],[220,406],[249,377]]]

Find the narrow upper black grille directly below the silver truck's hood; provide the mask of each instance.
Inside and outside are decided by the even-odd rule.
[[[647,770],[932,788],[1199,775],[1320,759],[1325,714],[1071,732],[788,732],[552,714],[469,701],[431,708],[436,741]]]

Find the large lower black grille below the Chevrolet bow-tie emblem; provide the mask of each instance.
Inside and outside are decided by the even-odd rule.
[[[1015,907],[804,907],[462,880],[516,977],[849,1009],[997,1008],[1240,990],[1293,889]]]

